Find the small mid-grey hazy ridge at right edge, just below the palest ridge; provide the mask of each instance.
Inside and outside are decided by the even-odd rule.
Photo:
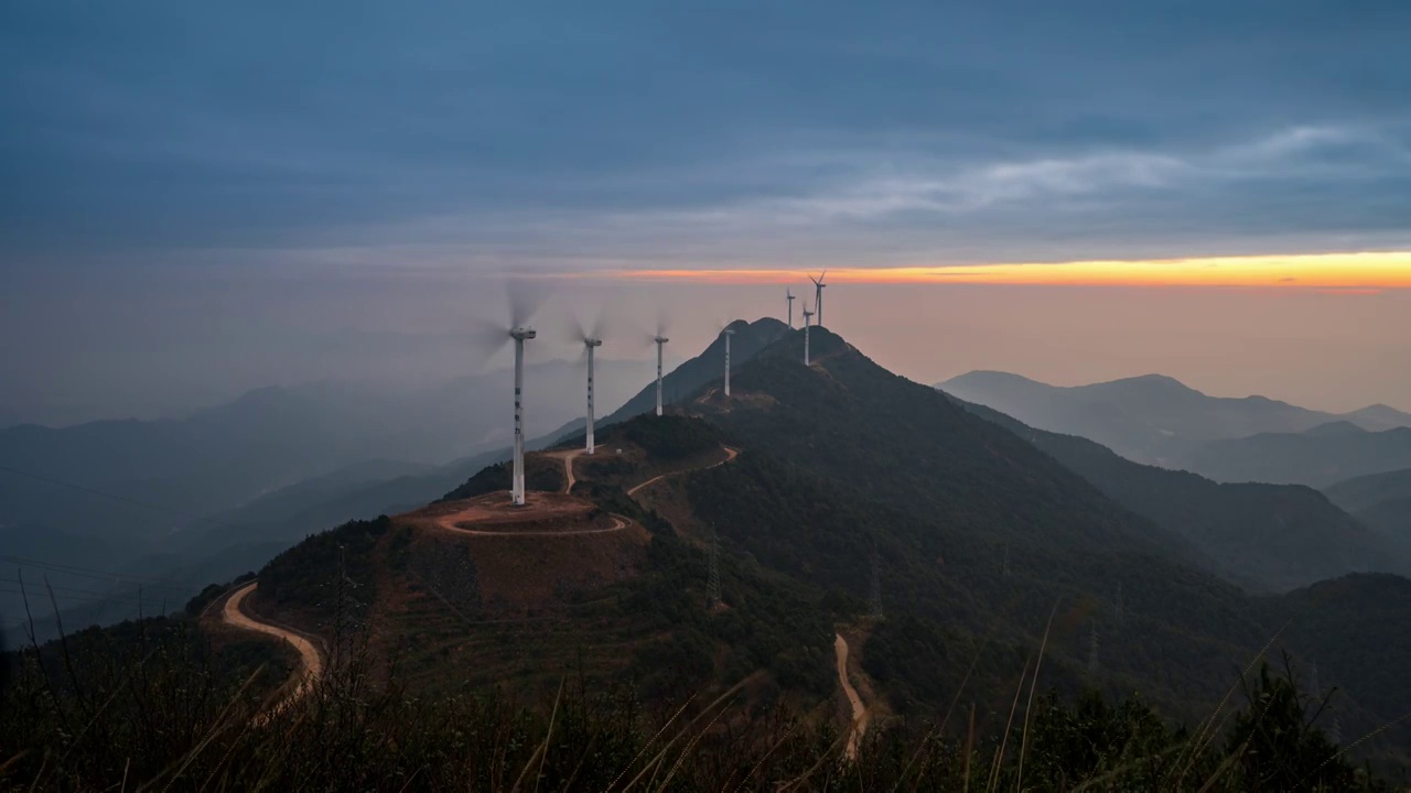
[[[1411,467],[1411,428],[1369,432],[1338,422],[1304,432],[1215,440],[1188,452],[1184,463],[1219,481],[1326,487]]]

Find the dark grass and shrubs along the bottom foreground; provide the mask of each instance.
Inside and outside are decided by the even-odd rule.
[[[0,790],[1384,790],[1264,666],[1243,703],[1171,730],[1144,703],[1015,690],[1009,727],[969,706],[875,724],[855,761],[817,713],[744,706],[744,684],[645,706],[567,677],[555,697],[416,698],[340,635],[330,673],[271,710],[282,669],[212,652],[182,621],[11,656]],[[135,632],[134,632],[135,631]],[[73,650],[83,650],[82,655]],[[391,683],[374,683],[374,680]],[[961,701],[964,697],[954,697]]]

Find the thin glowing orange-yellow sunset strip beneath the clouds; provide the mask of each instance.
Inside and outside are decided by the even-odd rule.
[[[818,268],[821,270],[821,268]],[[604,275],[708,284],[792,284],[797,270],[614,270]],[[1051,286],[1411,288],[1411,251],[828,268],[834,282]]]

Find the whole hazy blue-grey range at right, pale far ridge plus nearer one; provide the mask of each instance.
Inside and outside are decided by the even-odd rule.
[[[1411,428],[1411,413],[1386,405],[1326,413],[1264,396],[1208,396],[1163,375],[1064,388],[975,371],[937,388],[1129,460],[1219,481],[1322,485],[1411,467],[1411,446],[1398,432]]]

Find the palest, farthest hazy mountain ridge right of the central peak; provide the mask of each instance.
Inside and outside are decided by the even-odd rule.
[[[1184,464],[1188,452],[1212,440],[1304,432],[1339,419],[1373,432],[1411,426],[1411,415],[1386,405],[1338,416],[1264,396],[1208,396],[1163,375],[1064,388],[974,371],[937,388],[1029,426],[1086,437],[1129,460],[1165,467]]]

